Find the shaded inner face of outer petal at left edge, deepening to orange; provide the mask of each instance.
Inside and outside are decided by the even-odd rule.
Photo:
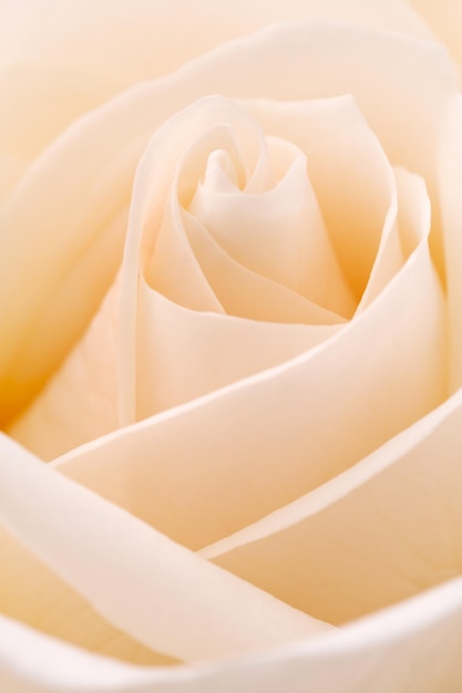
[[[81,337],[122,258],[136,146],[86,139],[83,155],[79,142],[64,137],[0,210],[2,422]]]

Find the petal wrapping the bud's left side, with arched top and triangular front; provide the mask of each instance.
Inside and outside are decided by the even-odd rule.
[[[124,262],[123,276],[127,287],[125,306],[133,296],[133,278],[137,278],[138,267],[147,266],[146,277],[154,282],[155,288],[162,292],[167,291],[168,298],[173,296],[182,303],[187,301],[187,306],[196,304],[201,312],[197,314],[186,312],[165,301],[158,293],[150,292],[146,283],[141,282],[135,298],[137,417],[148,416],[156,411],[197,397],[255,371],[283,362],[333,333],[333,330],[310,325],[302,328],[251,324],[229,318],[217,319],[209,312],[203,313],[207,308],[206,296],[201,293],[195,278],[203,280],[204,276],[197,266],[197,258],[192,256],[193,248],[176,206],[175,183],[174,193],[171,194],[167,205],[164,205],[162,192],[168,186],[168,169],[176,165],[174,153],[178,152],[179,156],[192,133],[202,132],[208,123],[213,124],[222,118],[230,125],[236,123],[236,127],[243,123],[246,128],[255,127],[248,116],[234,104],[216,97],[203,100],[173,117],[156,133],[138,167]],[[194,159],[196,167],[199,166],[199,162],[207,158],[208,148],[204,153],[203,145],[211,146],[212,139],[212,146],[218,148],[223,136],[225,141],[227,139],[227,131],[222,131],[220,127],[206,131],[207,134],[197,141]],[[182,133],[181,136],[178,133]],[[176,174],[177,178],[179,175]],[[192,185],[194,189],[195,184],[191,184],[189,179],[186,185],[189,187]],[[251,199],[256,199],[257,204],[264,201],[256,193]],[[171,217],[165,215],[165,207],[171,209]],[[192,207],[192,211],[198,210]],[[160,236],[155,238],[155,225],[160,218],[163,221]],[[256,220],[256,228],[250,224],[253,220]],[[248,224],[250,226],[247,228],[247,236],[260,232],[256,215],[250,215]],[[266,226],[261,226],[266,231]],[[251,239],[248,242],[251,244]],[[240,245],[244,245],[243,240]],[[321,263],[321,268],[329,276],[329,262],[320,259],[318,263]],[[167,276],[164,278],[164,275]],[[336,288],[335,279],[336,277],[333,277]],[[125,320],[126,314],[121,325],[124,331],[130,330]],[[134,356],[130,353],[124,354],[122,360],[123,365],[130,364],[134,362]],[[130,369],[126,365],[125,372],[130,377]],[[125,401],[125,390],[122,390],[121,396]]]

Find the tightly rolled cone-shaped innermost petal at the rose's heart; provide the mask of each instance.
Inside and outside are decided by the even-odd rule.
[[[188,211],[244,267],[277,281],[324,308],[351,316],[355,297],[326,234],[307,175],[304,153],[268,137],[277,185],[246,194],[223,176],[206,176]]]

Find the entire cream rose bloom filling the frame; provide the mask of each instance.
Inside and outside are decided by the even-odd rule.
[[[243,10],[222,34],[211,32],[207,8],[207,35],[175,45],[171,61],[275,19],[324,12],[340,23],[280,25],[225,45],[103,103],[43,149],[79,113],[152,75],[140,31],[152,40],[153,23],[140,6],[138,52],[123,70],[112,56],[111,74],[94,54],[96,15],[82,24],[84,55],[57,45],[79,37],[75,17],[71,37],[61,17],[51,42],[45,34],[45,45],[21,55],[35,66],[23,86],[14,8],[3,22],[12,111],[18,100],[40,105],[45,80],[54,89],[69,82],[63,73],[88,79],[74,77],[72,99],[57,92],[55,115],[48,86],[51,101],[33,128],[8,112],[2,126],[4,425],[41,457],[66,452],[45,467],[2,438],[4,686],[456,690],[461,588],[458,580],[434,587],[459,573],[460,546],[460,118],[448,59],[400,4],[394,15],[389,6],[271,8],[274,15],[255,7],[257,19]],[[38,8],[45,10],[28,10]],[[123,11],[107,14],[114,37]],[[152,11],[157,21],[165,12]],[[358,29],[371,23],[425,41]],[[435,32],[445,38],[448,27]],[[68,55],[61,74],[53,50]],[[201,100],[215,92],[225,97]],[[249,195],[239,194],[244,185]],[[86,329],[117,268],[129,201],[122,273]],[[175,245],[183,227],[174,215],[183,215],[201,270],[234,318],[217,316],[187,245]],[[265,240],[274,223],[273,255],[256,220]],[[280,224],[294,229],[283,244]],[[238,255],[234,262],[223,246]],[[291,286],[306,280],[296,273],[300,256],[309,262],[315,251],[310,286]],[[174,281],[178,258],[187,290]],[[178,334],[191,342],[186,355]],[[363,614],[371,616],[305,640],[327,628],[312,616],[338,624]],[[187,666],[129,668],[30,627],[151,664],[168,662],[156,650],[195,662],[296,644],[198,675]]]

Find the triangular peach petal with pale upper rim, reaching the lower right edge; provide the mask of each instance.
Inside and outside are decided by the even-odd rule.
[[[462,391],[351,469],[202,551],[335,623],[462,573]]]

